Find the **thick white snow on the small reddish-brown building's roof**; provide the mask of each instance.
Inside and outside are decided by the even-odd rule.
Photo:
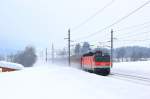
[[[18,63],[0,61],[0,67],[11,68],[11,69],[23,69],[23,65]]]

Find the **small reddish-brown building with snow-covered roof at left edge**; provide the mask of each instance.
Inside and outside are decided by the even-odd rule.
[[[10,72],[23,69],[24,66],[17,63],[0,61],[0,72]]]

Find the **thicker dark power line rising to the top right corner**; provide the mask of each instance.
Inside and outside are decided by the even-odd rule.
[[[97,33],[102,32],[102,31],[104,31],[104,30],[106,30],[106,29],[108,29],[108,28],[110,28],[110,27],[112,27],[112,26],[114,26],[114,25],[120,23],[121,21],[123,21],[123,20],[125,20],[126,18],[128,18],[129,16],[133,15],[134,13],[136,13],[137,11],[139,11],[140,9],[142,9],[144,6],[146,6],[146,5],[149,4],[149,3],[150,3],[150,0],[147,1],[147,2],[145,2],[144,4],[142,4],[141,6],[139,6],[138,8],[136,8],[135,10],[133,10],[132,12],[128,13],[127,15],[123,16],[122,18],[118,19],[118,20],[115,21],[114,23],[112,23],[112,24],[110,24],[110,25],[108,25],[108,26],[106,26],[106,27],[104,27],[104,28],[102,28],[102,29],[100,29],[100,30],[94,32],[94,33],[91,33],[91,34],[88,35],[88,36],[78,38],[78,40],[79,40],[79,39],[83,39],[83,38],[92,37],[92,36],[96,35]]]

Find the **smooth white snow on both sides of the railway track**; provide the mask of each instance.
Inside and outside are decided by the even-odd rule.
[[[117,63],[117,70],[148,72],[147,62]],[[149,63],[149,62],[148,62]],[[119,65],[120,64],[120,65]],[[115,69],[116,68],[116,69]],[[147,68],[147,69],[146,69]],[[136,71],[137,70],[137,71]],[[128,72],[130,72],[128,71]],[[150,71],[149,71],[150,72]],[[150,86],[100,76],[61,65],[36,64],[33,68],[0,73],[0,99],[149,99]]]

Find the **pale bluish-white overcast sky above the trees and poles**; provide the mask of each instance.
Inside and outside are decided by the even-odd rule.
[[[0,0],[0,48],[20,49],[26,45],[38,48],[67,46],[68,28],[74,28],[112,0]],[[148,0],[114,0],[114,2],[76,30],[72,40],[89,41],[95,46],[110,40],[114,29],[114,47],[141,45],[150,47],[150,4],[119,24],[85,38],[119,18],[127,15]],[[146,23],[136,28],[125,27]],[[149,23],[148,23],[149,22]],[[117,31],[122,29],[122,31]],[[78,39],[82,38],[83,39]],[[134,41],[133,41],[134,40]],[[141,40],[141,41],[139,41]],[[147,41],[144,41],[147,40]],[[75,43],[74,43],[75,44]],[[105,45],[105,44],[103,44]],[[109,44],[106,44],[109,45]]]

